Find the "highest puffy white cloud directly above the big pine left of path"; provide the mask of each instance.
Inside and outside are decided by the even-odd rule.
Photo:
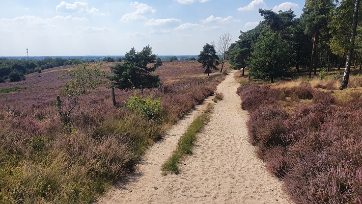
[[[129,22],[134,20],[147,20],[147,17],[144,16],[145,14],[156,13],[156,10],[153,9],[152,7],[149,7],[147,4],[132,2],[131,6],[134,6],[136,10],[132,13],[124,14],[120,19],[121,22]]]

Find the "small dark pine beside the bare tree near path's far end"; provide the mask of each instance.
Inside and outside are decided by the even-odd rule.
[[[203,46],[203,50],[200,52],[198,62],[202,64],[202,67],[205,68],[205,73],[209,76],[212,73],[211,69],[218,70],[216,66],[219,65],[219,57],[216,55],[215,46],[206,43]]]

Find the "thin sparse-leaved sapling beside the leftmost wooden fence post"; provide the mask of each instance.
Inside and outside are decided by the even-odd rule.
[[[70,122],[70,114],[75,108],[78,102],[79,96],[86,94],[88,90],[95,89],[99,84],[104,81],[102,78],[105,77],[106,73],[101,71],[102,64],[95,65],[92,68],[88,68],[88,64],[78,64],[75,68],[70,69],[60,75],[60,79],[69,77],[69,82],[66,82],[64,89],[61,91],[62,95],[67,96],[71,103],[69,110],[63,110],[63,116],[65,123]]]

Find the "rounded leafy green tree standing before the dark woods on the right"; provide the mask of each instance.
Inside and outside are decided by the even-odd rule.
[[[253,45],[253,52],[249,58],[249,73],[257,79],[285,75],[290,68],[292,53],[289,43],[283,40],[281,34],[272,30],[260,36]]]

